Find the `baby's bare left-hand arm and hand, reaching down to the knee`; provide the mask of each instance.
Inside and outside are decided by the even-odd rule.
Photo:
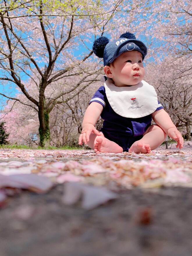
[[[95,129],[95,124],[98,121],[101,112],[103,111],[103,106],[98,102],[92,102],[85,111],[85,115],[82,123],[82,131],[79,136],[79,145],[83,143],[87,144],[89,142],[89,136],[91,133],[96,135],[101,135],[97,129]]]

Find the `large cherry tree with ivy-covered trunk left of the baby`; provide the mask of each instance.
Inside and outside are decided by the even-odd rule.
[[[125,30],[145,3],[2,1],[1,85],[18,86],[28,99],[24,104],[37,111],[42,146],[50,138],[49,114],[54,107],[72,99],[97,78],[101,66],[90,65],[90,40],[120,26]],[[35,93],[30,87],[26,89],[26,82],[35,84]],[[51,96],[47,96],[47,88],[52,89]]]

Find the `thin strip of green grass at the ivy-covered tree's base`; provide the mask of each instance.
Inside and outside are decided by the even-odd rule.
[[[63,146],[63,147],[29,147],[26,145],[0,145],[0,148],[5,148],[5,149],[45,149],[45,150],[55,150],[55,149],[60,149],[60,150],[75,150],[75,149],[81,149],[80,147],[70,147],[70,146]]]

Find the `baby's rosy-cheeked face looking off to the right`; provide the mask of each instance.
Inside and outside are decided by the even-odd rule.
[[[136,85],[145,75],[142,54],[139,51],[126,51],[115,59],[110,67],[112,79],[116,86]]]

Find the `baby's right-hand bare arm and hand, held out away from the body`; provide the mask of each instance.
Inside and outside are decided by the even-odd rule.
[[[177,141],[176,147],[181,149],[183,147],[183,137],[172,122],[168,113],[164,109],[160,109],[152,113],[152,118],[168,136]]]

